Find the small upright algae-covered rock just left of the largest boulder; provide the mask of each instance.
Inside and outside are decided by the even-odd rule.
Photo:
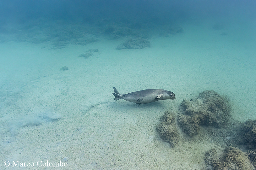
[[[179,133],[175,124],[174,112],[165,112],[160,118],[160,123],[157,125],[156,130],[162,140],[170,143],[171,147],[178,143]]]

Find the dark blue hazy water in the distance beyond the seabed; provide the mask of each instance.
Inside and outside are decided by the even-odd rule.
[[[1,0],[1,26],[45,18],[69,22],[100,24],[99,20],[168,25],[196,20],[215,20],[233,24],[255,20],[255,1],[47,1]],[[4,31],[4,29],[2,29]],[[6,31],[6,30],[5,30]]]

